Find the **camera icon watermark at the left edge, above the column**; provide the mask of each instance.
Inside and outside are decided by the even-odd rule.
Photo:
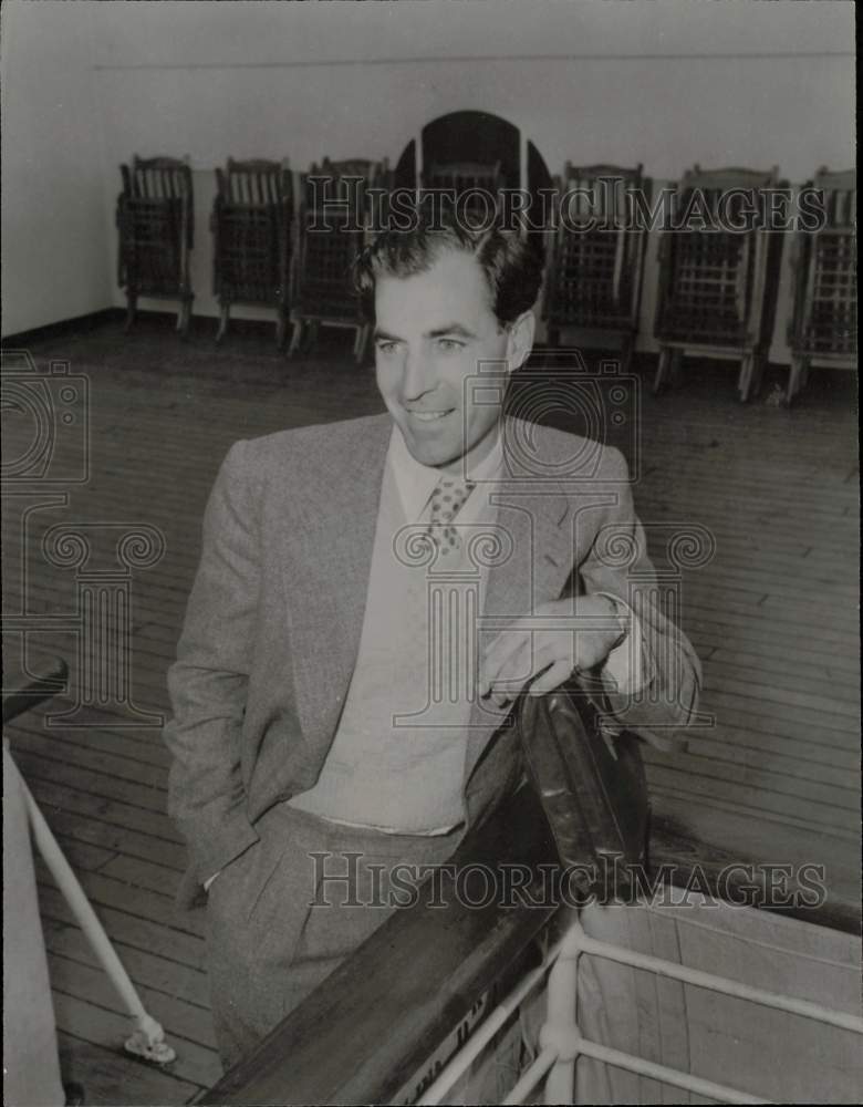
[[[90,381],[67,361],[40,370],[27,350],[0,358],[2,480],[79,485],[90,479]]]

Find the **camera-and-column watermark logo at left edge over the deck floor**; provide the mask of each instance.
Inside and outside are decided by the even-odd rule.
[[[1,369],[2,494],[18,508],[17,526],[7,528],[19,573],[6,593],[7,662],[15,643],[21,674],[35,679],[33,652],[55,653],[59,638],[71,639],[72,704],[48,713],[48,727],[162,727],[163,714],[138,707],[132,696],[132,583],[135,571],[162,560],[165,536],[142,523],[49,521],[70,510],[74,493],[91,480],[90,379],[67,361],[40,369],[27,350],[3,351]],[[74,599],[71,610],[58,612],[52,589],[66,572],[74,576]]]

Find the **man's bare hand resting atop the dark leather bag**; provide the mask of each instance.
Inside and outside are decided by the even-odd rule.
[[[574,610],[574,614],[573,614]],[[595,669],[625,630],[614,603],[604,596],[581,596],[543,603],[518,619],[489,643],[480,665],[479,694],[506,707],[532,680],[531,695],[563,684],[573,670]]]

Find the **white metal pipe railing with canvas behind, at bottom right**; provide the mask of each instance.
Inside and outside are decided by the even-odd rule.
[[[517,1084],[503,1100],[505,1104],[521,1104],[545,1079],[544,1101],[547,1104],[574,1103],[575,1062],[580,1056],[593,1057],[641,1076],[662,1080],[674,1087],[684,1088],[697,1095],[730,1104],[765,1104],[772,1100],[749,1095],[724,1084],[694,1076],[692,1073],[645,1061],[634,1054],[612,1049],[599,1042],[583,1037],[576,1022],[576,992],[579,983],[579,960],[582,953],[605,958],[617,964],[643,969],[693,984],[697,987],[721,992],[724,995],[760,1003],[762,1006],[813,1018],[842,1030],[863,1034],[863,1018],[842,1011],[824,1007],[808,1000],[797,1000],[778,992],[751,987],[738,981],[698,969],[688,969],[673,961],[665,961],[646,953],[638,953],[625,946],[601,942],[590,938],[580,922],[573,923],[565,935],[548,952],[543,963],[530,972],[521,983],[491,1012],[475,1031],[435,1083],[418,1100],[420,1105],[440,1104],[468,1070],[472,1062],[491,1042],[510,1015],[521,1005],[530,992],[548,975],[547,1018],[540,1032],[540,1053],[521,1074]]]

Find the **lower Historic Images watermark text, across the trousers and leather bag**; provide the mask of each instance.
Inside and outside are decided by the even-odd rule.
[[[700,863],[663,863],[648,869],[620,855],[562,866],[548,862],[479,861],[392,866],[365,862],[362,852],[309,853],[313,908],[412,908],[453,906],[481,911],[580,909],[589,903],[651,903],[655,907],[732,904],[769,910],[812,910],[826,901],[826,867],[808,861],[734,862],[708,871]]]

